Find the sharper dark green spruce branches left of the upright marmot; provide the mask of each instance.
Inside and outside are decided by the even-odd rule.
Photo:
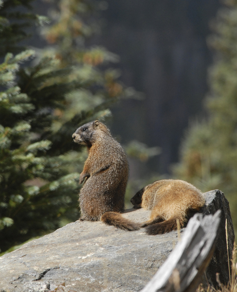
[[[52,141],[42,138],[45,132],[42,127],[50,127],[54,119],[51,112],[44,111],[47,101],[36,101],[36,98],[22,93],[20,87],[11,86],[16,79],[16,73],[19,72],[19,63],[33,55],[33,51],[25,51],[15,57],[7,54],[0,65],[2,250],[30,237],[54,230],[59,226],[60,217],[69,212],[69,207],[71,212],[73,207],[74,213],[76,211],[75,179],[79,174],[68,174],[65,168],[68,161],[63,155],[46,154],[52,147]],[[38,73],[44,70],[40,64],[37,65]],[[45,73],[45,78],[49,79],[49,75],[51,71]],[[31,75],[35,86],[38,76],[34,78]],[[45,88],[41,82],[39,85]],[[53,92],[51,94],[53,95]],[[48,106],[53,109],[58,100],[49,98]]]

